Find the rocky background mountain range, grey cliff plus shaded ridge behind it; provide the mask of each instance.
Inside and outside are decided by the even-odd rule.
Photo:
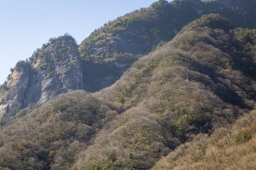
[[[95,30],[80,45],[71,36],[51,39],[29,61],[19,61],[0,87],[0,117],[41,105],[71,90],[99,91],[131,64],[170,41],[185,24],[219,13],[234,26],[255,28],[255,0],[159,0]]]

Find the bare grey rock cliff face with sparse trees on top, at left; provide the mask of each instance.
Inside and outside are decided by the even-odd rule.
[[[53,39],[14,68],[0,93],[0,116],[82,87],[81,58],[73,38]]]

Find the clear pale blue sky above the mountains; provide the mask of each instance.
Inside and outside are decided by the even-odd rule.
[[[0,0],[0,84],[18,60],[31,57],[49,38],[69,33],[80,44],[109,20],[154,1]]]

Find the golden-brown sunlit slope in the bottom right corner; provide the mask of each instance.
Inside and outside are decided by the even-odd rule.
[[[255,148],[256,111],[252,110],[231,126],[216,129],[210,137],[194,136],[152,170],[254,170]]]

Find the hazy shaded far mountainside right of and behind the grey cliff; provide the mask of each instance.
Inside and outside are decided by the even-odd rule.
[[[203,14],[218,13],[234,26],[255,28],[255,7],[255,0],[174,0],[170,3],[159,0],[149,8],[118,17],[95,30],[79,45],[82,59],[91,61],[84,63],[85,73],[87,66],[94,62],[96,68],[102,64],[111,69],[103,77],[97,69],[90,69],[91,77],[83,81],[86,90],[94,92],[105,87],[95,85],[94,79],[104,82],[104,78],[111,76],[113,81],[117,80],[119,73],[133,61],[170,41],[184,25]]]

